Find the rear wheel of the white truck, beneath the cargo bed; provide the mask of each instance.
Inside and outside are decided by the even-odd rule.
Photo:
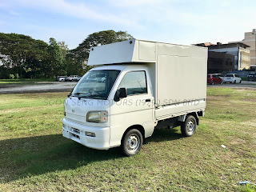
[[[186,121],[182,122],[182,125],[181,125],[182,134],[185,137],[190,137],[193,134],[195,134],[196,127],[197,127],[197,120],[194,118],[194,116],[189,115],[186,117]]]

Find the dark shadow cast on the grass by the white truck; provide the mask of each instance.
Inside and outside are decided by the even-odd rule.
[[[177,130],[155,130],[146,142],[164,142],[182,138]],[[40,175],[58,170],[76,169],[92,162],[123,158],[119,147],[94,150],[82,146],[62,134],[0,141],[0,182]]]

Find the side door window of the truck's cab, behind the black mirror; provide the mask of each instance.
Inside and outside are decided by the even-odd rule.
[[[122,82],[118,86],[120,88],[126,88],[127,95],[132,94],[146,94],[146,73],[145,71],[133,71],[128,72],[122,78]]]

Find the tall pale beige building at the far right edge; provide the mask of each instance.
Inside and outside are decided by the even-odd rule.
[[[250,50],[250,68],[256,70],[256,30],[254,29],[252,32],[246,32],[245,38],[238,42],[242,42],[249,46],[248,50]]]

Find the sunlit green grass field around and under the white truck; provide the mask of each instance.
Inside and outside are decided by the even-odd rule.
[[[238,184],[256,182],[256,90],[209,88],[197,134],[155,130],[130,158],[63,138],[66,94],[0,94],[0,191],[256,191]]]

